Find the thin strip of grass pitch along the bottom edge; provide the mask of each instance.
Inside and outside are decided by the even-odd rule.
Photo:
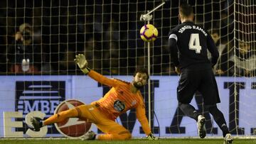
[[[125,141],[100,141],[100,140],[70,140],[70,139],[16,139],[16,140],[7,140],[7,139],[0,139],[0,143],[2,144],[85,144],[85,143],[96,143],[96,144],[146,144],[146,143],[152,143],[152,144],[223,144],[222,139],[189,139],[189,138],[169,138],[169,139],[160,139],[160,140],[146,140],[146,139],[132,139],[132,140],[125,140]],[[256,144],[256,139],[235,139],[233,141],[235,144]]]

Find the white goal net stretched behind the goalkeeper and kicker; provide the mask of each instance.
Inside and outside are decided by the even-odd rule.
[[[148,87],[142,94],[146,109],[151,106],[146,116],[150,115],[153,133],[161,137],[197,136],[196,122],[177,107],[179,77],[168,48],[169,31],[180,23],[178,6],[184,2],[193,6],[195,23],[206,28],[220,52],[213,72],[222,101],[218,107],[230,132],[255,135],[256,1],[165,1],[151,13],[150,23],[159,35],[150,44],[148,63],[147,43],[139,35],[146,22],[139,18],[162,2],[1,0],[0,137],[29,137],[33,134],[28,134],[31,126],[25,117],[31,111],[41,111],[45,119],[65,99],[90,104],[110,89],[80,72],[73,61],[79,53],[85,54],[92,70],[128,82],[138,67],[150,65],[150,100]],[[191,104],[206,116],[208,136],[221,136],[213,117],[203,110],[201,94],[195,95]],[[119,116],[117,122],[135,137],[144,136],[135,110]],[[95,126],[92,130],[101,133]],[[53,125],[46,133],[41,135],[60,136]]]

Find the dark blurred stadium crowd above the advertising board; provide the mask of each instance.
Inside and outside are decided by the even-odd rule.
[[[211,5],[203,7],[203,2]],[[234,35],[233,2],[197,3],[195,22],[209,30],[220,52],[215,74],[255,76],[255,40],[251,39],[255,37]],[[0,73],[82,74],[73,60],[85,53],[93,70],[132,74],[136,67],[147,65],[146,43],[139,38],[144,22],[139,16],[154,5],[154,1],[131,1],[129,6],[119,1],[0,1]],[[212,7],[215,11],[210,12]],[[168,33],[178,25],[177,10],[178,3],[172,1],[164,6],[164,13],[153,13],[159,37],[151,47],[151,74],[176,74]],[[27,70],[21,67],[26,64]]]

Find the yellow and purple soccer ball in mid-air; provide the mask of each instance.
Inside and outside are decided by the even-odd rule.
[[[156,40],[156,37],[158,35],[157,29],[151,24],[142,26],[139,33],[141,35],[142,40],[146,42],[152,42]]]

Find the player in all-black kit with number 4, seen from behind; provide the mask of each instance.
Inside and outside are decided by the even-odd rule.
[[[198,135],[206,137],[206,118],[190,104],[196,91],[203,95],[203,104],[223,131],[224,144],[232,143],[223,113],[218,109],[220,103],[218,87],[212,67],[216,64],[219,53],[210,34],[201,26],[193,23],[193,8],[183,4],[178,17],[181,24],[170,31],[169,48],[175,70],[181,74],[177,87],[178,107],[187,116],[198,123]],[[208,60],[207,50],[212,55]]]

